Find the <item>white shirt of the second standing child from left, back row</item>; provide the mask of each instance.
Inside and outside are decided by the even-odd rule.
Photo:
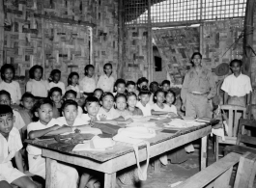
[[[48,90],[48,82],[44,80],[37,81],[35,79],[30,79],[26,85],[26,92],[29,92],[34,96],[47,97]]]

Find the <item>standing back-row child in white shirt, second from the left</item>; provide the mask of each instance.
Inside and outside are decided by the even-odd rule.
[[[35,97],[47,97],[49,85],[42,79],[43,67],[36,65],[29,69],[30,80],[26,84],[26,92],[33,94]]]

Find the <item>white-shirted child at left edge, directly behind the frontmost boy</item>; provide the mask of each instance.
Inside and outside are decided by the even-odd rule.
[[[11,106],[11,100],[12,100],[11,94],[6,92],[5,90],[0,91],[0,104]],[[14,120],[15,120],[14,127],[17,128],[21,133],[21,128],[26,126],[26,124],[17,111],[13,110],[13,113],[14,113]]]

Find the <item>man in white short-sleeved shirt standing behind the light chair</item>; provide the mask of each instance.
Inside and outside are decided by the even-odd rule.
[[[242,74],[242,61],[232,60],[230,68],[233,74],[224,79],[221,90],[224,94],[224,104],[232,104],[245,107],[249,104],[252,92],[250,78]],[[246,97],[247,96],[247,97]]]

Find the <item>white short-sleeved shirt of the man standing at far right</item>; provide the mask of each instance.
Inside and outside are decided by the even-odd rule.
[[[224,79],[221,90],[230,96],[244,96],[252,91],[250,78],[247,75],[240,74],[236,77],[234,74]]]

